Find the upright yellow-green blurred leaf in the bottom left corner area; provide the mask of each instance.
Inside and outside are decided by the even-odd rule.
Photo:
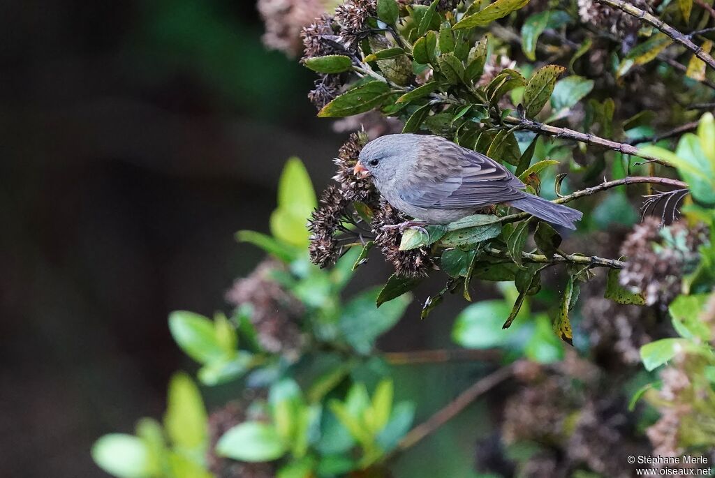
[[[199,388],[187,374],[169,382],[164,428],[174,447],[203,452],[207,447],[207,414]]]

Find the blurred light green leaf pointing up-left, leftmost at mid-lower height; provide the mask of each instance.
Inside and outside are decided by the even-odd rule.
[[[169,314],[169,331],[182,351],[201,364],[227,356],[217,339],[214,323],[207,317],[193,312],[172,312]]]

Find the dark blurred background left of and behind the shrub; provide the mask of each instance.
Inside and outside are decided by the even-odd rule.
[[[0,2],[0,476],[107,476],[92,442],[161,417],[169,375],[192,371],[167,314],[228,308],[262,257],[233,234],[267,231],[289,156],[330,180],[347,134],[262,33],[252,1]],[[459,306],[420,322],[413,304],[381,347],[448,343]],[[445,367],[408,380],[418,416],[478,369]],[[437,450],[470,462],[473,442]],[[406,461],[437,466],[423,446]]]

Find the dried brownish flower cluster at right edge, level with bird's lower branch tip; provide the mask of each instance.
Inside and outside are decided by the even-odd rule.
[[[680,293],[681,279],[698,260],[698,247],[708,240],[704,226],[689,227],[679,221],[661,229],[660,219],[649,216],[621,246],[628,257],[620,280],[641,292],[649,305],[668,304]]]

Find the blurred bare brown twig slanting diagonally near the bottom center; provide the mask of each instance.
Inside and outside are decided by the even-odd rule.
[[[423,438],[437,431],[443,424],[450,421],[456,417],[460,412],[462,412],[466,407],[468,407],[472,402],[481,397],[486,392],[496,387],[501,382],[509,379],[514,374],[514,369],[516,368],[518,362],[514,362],[507,367],[502,367],[496,372],[487,375],[483,379],[478,380],[471,387],[466,389],[464,392],[458,395],[452,402],[448,403],[440,409],[437,413],[433,414],[432,417],[428,418],[426,422],[419,424],[417,427],[411,429],[408,434],[400,441],[395,452],[403,452],[405,449],[413,447],[415,444],[420,442]],[[395,453],[393,452],[393,453]]]

